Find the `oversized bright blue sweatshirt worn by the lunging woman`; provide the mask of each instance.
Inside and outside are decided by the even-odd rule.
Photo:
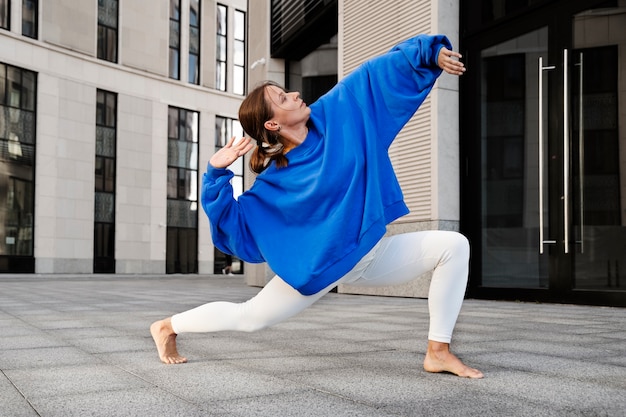
[[[233,173],[209,165],[201,199],[215,246],[267,262],[304,295],[349,272],[409,212],[388,149],[441,74],[444,46],[444,36],[416,36],[354,70],[310,106],[289,165],[272,163],[238,200]]]

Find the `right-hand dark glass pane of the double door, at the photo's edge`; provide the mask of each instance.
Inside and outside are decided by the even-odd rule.
[[[626,9],[583,11],[571,20],[564,88],[572,287],[626,291]]]

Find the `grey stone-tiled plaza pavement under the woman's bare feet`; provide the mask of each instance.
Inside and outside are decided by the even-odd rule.
[[[466,300],[453,351],[482,380],[422,370],[427,300],[331,293],[256,333],[148,327],[259,291],[238,276],[0,275],[0,416],[626,415],[626,309]]]

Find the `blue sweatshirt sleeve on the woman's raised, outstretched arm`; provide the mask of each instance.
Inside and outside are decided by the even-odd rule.
[[[452,49],[443,35],[418,35],[373,58],[342,81],[354,96],[364,120],[387,147],[424,102],[442,70],[442,47]]]

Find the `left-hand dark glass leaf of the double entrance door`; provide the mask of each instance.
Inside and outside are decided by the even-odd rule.
[[[538,117],[547,89],[537,70],[547,53],[547,26],[481,51],[483,287],[548,287],[549,259],[541,245],[548,184],[539,162],[545,162],[546,142]]]

